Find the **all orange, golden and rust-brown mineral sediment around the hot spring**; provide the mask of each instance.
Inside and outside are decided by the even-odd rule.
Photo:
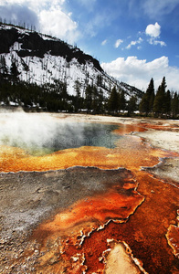
[[[145,124],[145,127],[150,128],[150,125]],[[123,133],[129,131],[140,130],[138,125],[137,128],[132,125],[127,126]],[[57,170],[74,165],[101,169],[125,167],[132,171],[135,178],[123,178],[122,184],[109,184],[106,191],[86,196],[41,223],[29,238],[29,243],[37,244],[38,256],[34,259],[36,273],[112,273],[114,264],[110,261],[118,259],[115,252],[121,252],[123,267],[127,259],[126,268],[132,267],[127,270],[129,274],[135,271],[156,274],[179,272],[174,258],[179,246],[178,227],[174,224],[179,188],[154,177],[147,170],[141,170],[142,166],[152,167],[159,163],[159,157],[178,157],[178,153],[154,149],[136,136],[125,136],[112,150],[81,147],[44,157],[32,157],[15,148],[12,153],[10,150],[9,153],[1,153],[1,171]],[[9,163],[12,155],[15,158]],[[125,243],[130,252],[126,255],[124,244],[116,244],[111,247],[105,262],[108,239]],[[29,262],[36,250],[26,248],[21,262],[26,260],[27,264],[27,258]],[[136,258],[142,269],[136,267],[132,258]]]

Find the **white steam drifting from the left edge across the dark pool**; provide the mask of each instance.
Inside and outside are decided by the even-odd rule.
[[[52,153],[83,145],[112,147],[111,126],[67,122],[48,113],[0,113],[0,145]]]

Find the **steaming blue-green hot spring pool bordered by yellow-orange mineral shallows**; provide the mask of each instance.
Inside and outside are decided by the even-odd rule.
[[[112,133],[118,126],[88,122],[43,122],[35,127],[16,126],[11,134],[3,135],[1,142],[20,147],[33,155],[44,155],[81,146],[100,146],[114,148],[121,138]]]

